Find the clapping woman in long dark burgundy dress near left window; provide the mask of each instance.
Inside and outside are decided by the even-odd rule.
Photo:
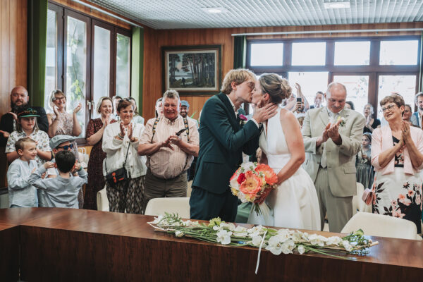
[[[115,123],[112,118],[114,113],[113,101],[109,97],[100,97],[97,102],[99,118],[88,122],[85,133],[87,145],[92,146],[90,160],[88,161],[88,183],[85,188],[84,209],[97,209],[97,192],[104,188],[103,160],[106,153],[103,152],[103,133],[107,125]]]

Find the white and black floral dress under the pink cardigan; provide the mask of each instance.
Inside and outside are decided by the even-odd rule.
[[[400,140],[392,137],[393,144]],[[412,221],[417,233],[422,233],[422,178],[420,173],[404,173],[404,156],[401,149],[395,155],[393,173],[382,175],[377,172],[373,184],[373,213],[399,217]]]

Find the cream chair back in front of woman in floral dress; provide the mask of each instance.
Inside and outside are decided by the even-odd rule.
[[[411,240],[418,238],[416,225],[412,221],[369,212],[357,212],[345,224],[341,233],[351,233],[358,229],[362,229],[364,235]]]

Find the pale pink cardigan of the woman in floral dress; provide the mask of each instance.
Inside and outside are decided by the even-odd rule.
[[[410,127],[410,135],[413,142],[419,152],[423,154],[423,130],[420,128]],[[372,133],[372,165],[374,166],[375,171],[379,171],[382,175],[388,173],[393,173],[394,169],[394,159],[392,158],[389,161],[389,164],[385,167],[379,166],[379,154],[385,152],[387,149],[393,147],[392,142],[392,130],[389,125],[385,125],[381,128],[376,128]],[[423,163],[418,168],[415,168],[411,164],[410,154],[408,154],[408,149],[404,149],[404,172],[407,174],[418,173],[423,168]]]

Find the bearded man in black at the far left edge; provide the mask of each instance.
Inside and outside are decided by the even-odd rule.
[[[25,107],[28,104],[28,92],[23,86],[16,86],[11,91],[11,111],[1,116],[0,121],[0,147],[5,147],[8,136],[16,130],[16,123],[18,121],[18,109]],[[49,131],[49,121],[47,120],[46,111],[39,106],[32,106],[32,109],[37,111],[37,125],[38,128],[44,132]]]

